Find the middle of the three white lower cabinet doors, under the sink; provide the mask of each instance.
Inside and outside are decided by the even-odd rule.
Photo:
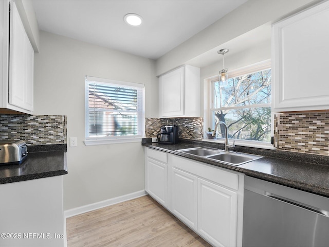
[[[172,168],[172,213],[196,231],[197,177]]]

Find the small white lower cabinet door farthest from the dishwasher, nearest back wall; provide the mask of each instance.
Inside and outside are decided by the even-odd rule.
[[[167,164],[147,157],[145,190],[163,206],[167,207]]]

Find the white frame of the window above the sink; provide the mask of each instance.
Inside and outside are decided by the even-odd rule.
[[[246,74],[252,74],[252,73],[256,73],[259,72],[261,70],[265,70],[265,69],[269,69],[271,68],[271,59],[259,62],[259,63],[255,63],[255,64],[251,64],[242,68],[237,68],[234,69],[232,71],[228,72],[229,78],[233,78],[233,77],[237,77],[237,76],[242,76],[242,75],[246,75]],[[215,108],[212,108],[212,106],[214,105],[213,103],[213,94],[212,94],[212,90],[213,90],[213,85],[212,82],[213,81],[218,81],[218,75],[216,76],[212,76],[210,78],[205,79],[205,83],[204,83],[204,91],[207,92],[205,93],[205,99],[204,99],[204,104],[205,104],[205,116],[204,116],[204,141],[207,142],[212,142],[212,143],[224,143],[224,138],[217,138],[216,140],[210,140],[207,139],[207,135],[206,135],[206,131],[208,129],[208,127],[213,127],[214,126],[214,122],[215,119],[212,117],[212,112]],[[272,91],[273,92],[273,91]],[[272,103],[265,103],[265,104],[253,104],[253,105],[248,105],[245,108],[250,108],[250,107],[272,107]],[[226,109],[241,109],[244,107],[228,107]],[[216,108],[218,109],[218,108]],[[274,112],[271,112],[271,136],[273,136],[273,130],[274,130]],[[259,142],[259,141],[255,141],[255,140],[240,140],[240,139],[231,139],[229,138],[229,143],[230,144],[234,144],[238,145],[238,146],[244,146],[244,147],[253,147],[253,148],[263,148],[263,149],[271,149],[271,150],[275,150],[275,146],[273,146],[273,144],[271,143],[266,143],[266,142]]]

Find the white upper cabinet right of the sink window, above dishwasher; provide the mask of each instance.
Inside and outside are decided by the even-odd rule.
[[[272,26],[275,112],[329,109],[329,2]]]

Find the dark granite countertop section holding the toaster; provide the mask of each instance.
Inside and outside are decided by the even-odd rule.
[[[67,174],[66,144],[28,146],[19,165],[0,166],[0,184]]]

